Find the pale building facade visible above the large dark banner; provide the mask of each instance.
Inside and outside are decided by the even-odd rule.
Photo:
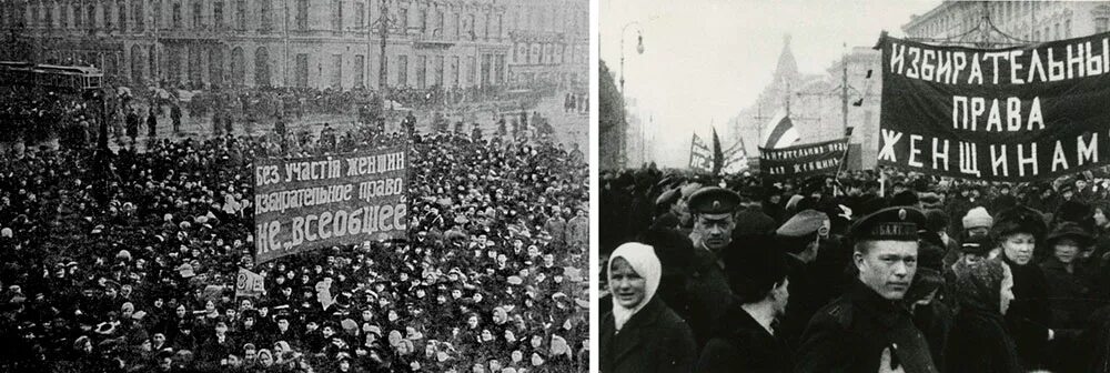
[[[983,24],[989,19],[998,32]],[[909,38],[934,43],[981,41],[1019,44],[1078,38],[1110,30],[1110,3],[1101,1],[946,0],[902,26]],[[985,32],[986,31],[986,32]],[[986,38],[979,38],[986,34]],[[982,40],[986,39],[986,40]]]

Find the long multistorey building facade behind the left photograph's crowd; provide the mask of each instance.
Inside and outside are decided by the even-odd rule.
[[[379,88],[384,64],[390,88],[452,89],[586,74],[587,9],[585,0],[23,0],[0,4],[0,28],[29,39],[34,62],[91,63],[130,84]]]

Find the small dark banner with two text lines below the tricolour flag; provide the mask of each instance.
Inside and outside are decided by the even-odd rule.
[[[759,170],[776,179],[835,173],[848,151],[848,138],[779,149],[759,148]]]

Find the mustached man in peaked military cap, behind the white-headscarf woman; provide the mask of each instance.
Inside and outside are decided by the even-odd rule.
[[[723,249],[731,243],[733,229],[736,228],[733,213],[739,203],[739,195],[717,186],[703,188],[689,199],[694,215],[694,232],[690,233],[694,263],[686,285],[690,301],[687,321],[699,347],[720,325],[719,319],[733,298],[720,255]]]

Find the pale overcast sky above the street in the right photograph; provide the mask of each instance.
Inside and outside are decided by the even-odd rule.
[[[636,27],[625,32],[625,90],[633,113],[654,118],[655,154],[683,167],[692,132],[718,132],[770,83],[783,37],[801,73],[824,73],[842,43],[874,46],[884,30],[902,36],[910,14],[940,0],[601,0],[601,58],[620,79],[620,33],[639,22],[644,53],[636,54]],[[727,141],[726,141],[727,142]],[[728,147],[728,144],[724,144]]]

